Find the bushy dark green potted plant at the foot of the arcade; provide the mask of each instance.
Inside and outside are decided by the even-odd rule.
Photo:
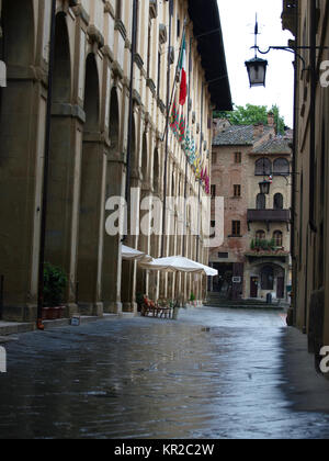
[[[65,271],[46,262],[44,269],[44,319],[61,318],[67,284],[68,278]]]

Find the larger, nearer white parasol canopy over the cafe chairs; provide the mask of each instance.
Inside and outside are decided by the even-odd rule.
[[[218,271],[200,262],[182,256],[172,256],[169,258],[154,259],[150,262],[141,262],[140,266],[148,270],[159,270],[164,272],[188,272],[188,273],[204,273],[208,277],[218,276]]]

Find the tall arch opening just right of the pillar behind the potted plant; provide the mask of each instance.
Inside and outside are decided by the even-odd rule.
[[[79,308],[87,315],[99,313],[101,280],[99,273],[100,225],[103,205],[102,179],[104,143],[100,133],[100,83],[94,54],[86,60],[78,281]]]

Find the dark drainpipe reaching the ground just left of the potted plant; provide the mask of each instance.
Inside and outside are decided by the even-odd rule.
[[[50,49],[48,69],[48,97],[46,113],[45,132],[45,158],[43,171],[43,200],[41,210],[41,239],[39,239],[39,261],[38,261],[38,293],[37,293],[37,328],[43,330],[43,305],[44,305],[44,267],[46,247],[46,224],[47,224],[47,202],[48,202],[48,172],[50,153],[50,128],[52,128],[52,105],[53,105],[53,80],[55,63],[55,31],[56,31],[56,0],[52,1],[52,23],[50,23]]]

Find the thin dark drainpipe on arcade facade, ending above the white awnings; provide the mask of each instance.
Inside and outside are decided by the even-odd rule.
[[[127,226],[129,223],[128,215],[131,210],[131,166],[132,166],[132,144],[133,144],[133,120],[134,120],[134,105],[133,105],[133,91],[134,91],[134,66],[136,56],[136,42],[137,42],[137,1],[133,3],[133,29],[132,29],[132,60],[131,60],[131,86],[129,86],[129,109],[128,109],[128,139],[127,139],[127,164],[126,164],[126,188],[125,200],[127,211]],[[126,241],[129,229],[122,238],[122,243]]]

